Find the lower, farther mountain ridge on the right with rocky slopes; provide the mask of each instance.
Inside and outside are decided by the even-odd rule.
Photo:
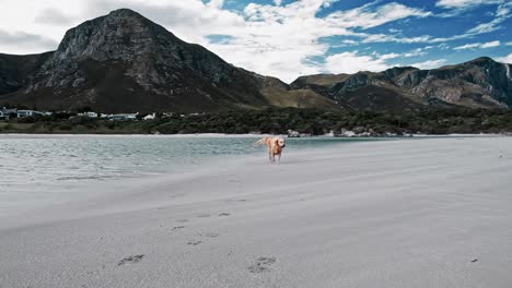
[[[511,65],[487,57],[432,70],[396,67],[379,73],[301,76],[291,87],[312,89],[357,110],[512,107]]]

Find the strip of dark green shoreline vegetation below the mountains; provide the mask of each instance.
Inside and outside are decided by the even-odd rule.
[[[0,122],[0,133],[300,133],[319,135],[342,130],[449,134],[512,132],[512,110],[457,109],[417,113],[329,111],[318,109],[243,110],[203,115],[174,115],[149,121],[109,121],[85,117],[19,118]]]

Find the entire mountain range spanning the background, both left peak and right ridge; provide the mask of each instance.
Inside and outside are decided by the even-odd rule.
[[[510,64],[478,58],[432,70],[307,75],[288,85],[234,67],[120,9],[71,28],[56,51],[0,55],[0,106],[102,112],[510,108]]]

